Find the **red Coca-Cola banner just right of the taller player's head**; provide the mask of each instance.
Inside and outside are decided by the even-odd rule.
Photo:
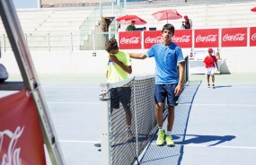
[[[192,48],[192,30],[175,30],[172,42],[181,48]]]

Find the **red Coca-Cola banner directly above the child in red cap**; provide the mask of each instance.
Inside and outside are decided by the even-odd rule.
[[[218,47],[218,29],[195,30],[195,48],[215,47]]]

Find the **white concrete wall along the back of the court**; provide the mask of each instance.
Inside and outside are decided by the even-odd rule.
[[[146,50],[144,50],[146,51]],[[144,52],[128,50],[128,52]],[[189,55],[190,49],[182,49],[183,55]],[[220,55],[225,60],[221,74],[256,73],[256,48],[222,48]],[[31,52],[38,74],[104,74],[104,50],[76,52]],[[9,74],[20,74],[13,53],[4,53],[0,58]],[[133,74],[154,74],[154,58],[133,59]]]

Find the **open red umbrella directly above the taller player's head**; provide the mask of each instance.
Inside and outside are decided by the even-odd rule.
[[[166,9],[156,13],[152,13],[154,18],[159,22],[162,20],[176,20],[182,18],[181,14],[178,13],[175,9]]]

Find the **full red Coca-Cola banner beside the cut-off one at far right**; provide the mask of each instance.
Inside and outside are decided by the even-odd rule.
[[[246,47],[247,28],[222,29],[222,47]]]

